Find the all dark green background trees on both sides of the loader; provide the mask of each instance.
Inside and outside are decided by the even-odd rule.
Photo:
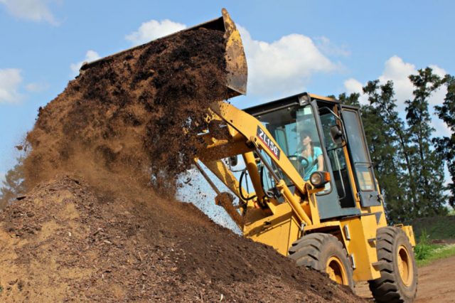
[[[414,218],[445,215],[455,207],[455,77],[439,77],[431,68],[418,70],[409,79],[414,86],[405,102],[405,115],[397,112],[392,81],[369,81],[360,94],[338,96],[346,105],[360,107],[375,173],[385,198],[387,218],[392,223],[409,223]],[[445,86],[444,100],[434,107],[449,127],[450,137],[434,137],[429,98]],[[22,159],[8,171],[0,186],[0,209],[23,193]],[[444,164],[451,183],[444,186]]]

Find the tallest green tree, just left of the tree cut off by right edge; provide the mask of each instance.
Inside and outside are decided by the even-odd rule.
[[[417,199],[414,201],[412,216],[424,217],[445,214],[444,206],[444,161],[441,154],[432,148],[431,116],[428,100],[444,81],[431,68],[418,70],[410,75],[414,85],[412,100],[406,103],[407,132],[410,137],[410,162],[416,184]]]

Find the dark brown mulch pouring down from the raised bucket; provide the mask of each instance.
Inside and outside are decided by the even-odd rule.
[[[39,110],[28,133],[26,181],[84,171],[92,159],[114,174],[175,188],[193,163],[211,102],[225,100],[222,31],[183,31],[82,70]],[[85,171],[86,176],[91,171]]]

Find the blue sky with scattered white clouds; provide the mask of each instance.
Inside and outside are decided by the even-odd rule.
[[[38,107],[63,91],[84,61],[220,16],[240,28],[249,66],[248,107],[302,91],[358,92],[431,66],[455,74],[453,1],[0,0],[0,178]],[[444,91],[432,98],[441,102]],[[434,118],[437,134],[446,134]]]

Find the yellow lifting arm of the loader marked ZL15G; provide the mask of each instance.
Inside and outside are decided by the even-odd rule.
[[[300,225],[312,225],[314,223],[312,220],[313,217],[318,217],[317,215],[312,216],[311,211],[309,211],[311,208],[316,209],[316,205],[314,205],[316,203],[315,199],[311,201],[313,207],[304,208],[303,205],[305,203],[309,204],[310,195],[316,192],[316,190],[309,182],[302,179],[266,127],[255,117],[226,102],[214,102],[210,110],[215,114],[215,119],[220,119],[227,124],[228,135],[224,134],[224,137],[221,136],[221,138],[218,135],[219,138],[217,138],[217,134],[223,132],[222,125],[218,123],[219,129],[212,129],[211,132],[205,134],[205,143],[207,145],[198,148],[198,159],[210,171],[213,171],[215,176],[218,176],[218,179],[228,186],[239,198],[242,198],[242,194],[240,193],[242,191],[240,188],[241,184],[230,173],[229,169],[223,164],[223,161],[221,161],[229,156],[241,154],[250,174],[252,185],[255,188],[255,195],[257,196],[255,201],[262,206],[267,206],[274,213],[274,208],[279,203],[277,203],[276,199],[264,193],[257,168],[257,160],[255,159],[255,155],[259,156],[259,158],[262,158],[261,162],[267,167],[269,174],[274,176],[275,187],[284,197],[284,201],[289,203],[292,213],[294,213],[294,216],[299,221],[298,223]],[[226,132],[226,129],[224,131]],[[261,151],[267,154],[269,160],[274,165],[270,165],[267,159],[264,159]],[[284,179],[282,179],[275,169],[279,169],[289,178],[296,188],[296,193],[290,191]],[[252,194],[249,197],[251,196]]]

